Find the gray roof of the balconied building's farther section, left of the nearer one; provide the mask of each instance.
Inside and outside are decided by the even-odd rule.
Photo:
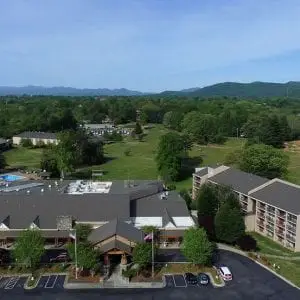
[[[233,190],[247,194],[250,190],[269,181],[254,174],[246,173],[237,169],[229,168],[208,179],[213,183],[230,186]]]

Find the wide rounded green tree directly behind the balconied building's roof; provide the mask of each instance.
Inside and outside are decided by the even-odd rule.
[[[287,172],[289,157],[284,152],[267,145],[252,145],[241,152],[239,168],[269,179],[282,177]]]

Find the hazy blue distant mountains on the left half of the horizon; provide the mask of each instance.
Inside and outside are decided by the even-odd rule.
[[[71,87],[0,86],[0,96],[4,95],[52,95],[52,96],[141,96],[142,92],[127,89],[77,89]]]

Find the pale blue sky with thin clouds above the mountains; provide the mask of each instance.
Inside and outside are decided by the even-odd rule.
[[[300,80],[299,0],[1,0],[0,86]]]

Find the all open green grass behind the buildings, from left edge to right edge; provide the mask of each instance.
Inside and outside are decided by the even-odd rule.
[[[167,130],[162,125],[149,129],[144,141],[139,142],[127,138],[123,142],[105,145],[105,164],[94,166],[93,169],[104,171],[103,180],[113,179],[157,179],[155,154],[159,137]],[[189,155],[192,158],[203,159],[201,165],[223,163],[231,151],[242,148],[244,140],[232,138],[224,145],[195,145]],[[129,151],[126,156],[125,152]],[[300,152],[287,152],[290,156],[287,179],[300,184]],[[41,149],[15,148],[4,153],[10,167],[27,166],[39,167],[42,155]],[[191,171],[192,173],[192,171]],[[176,183],[177,189],[191,188],[192,174],[181,182]]]

